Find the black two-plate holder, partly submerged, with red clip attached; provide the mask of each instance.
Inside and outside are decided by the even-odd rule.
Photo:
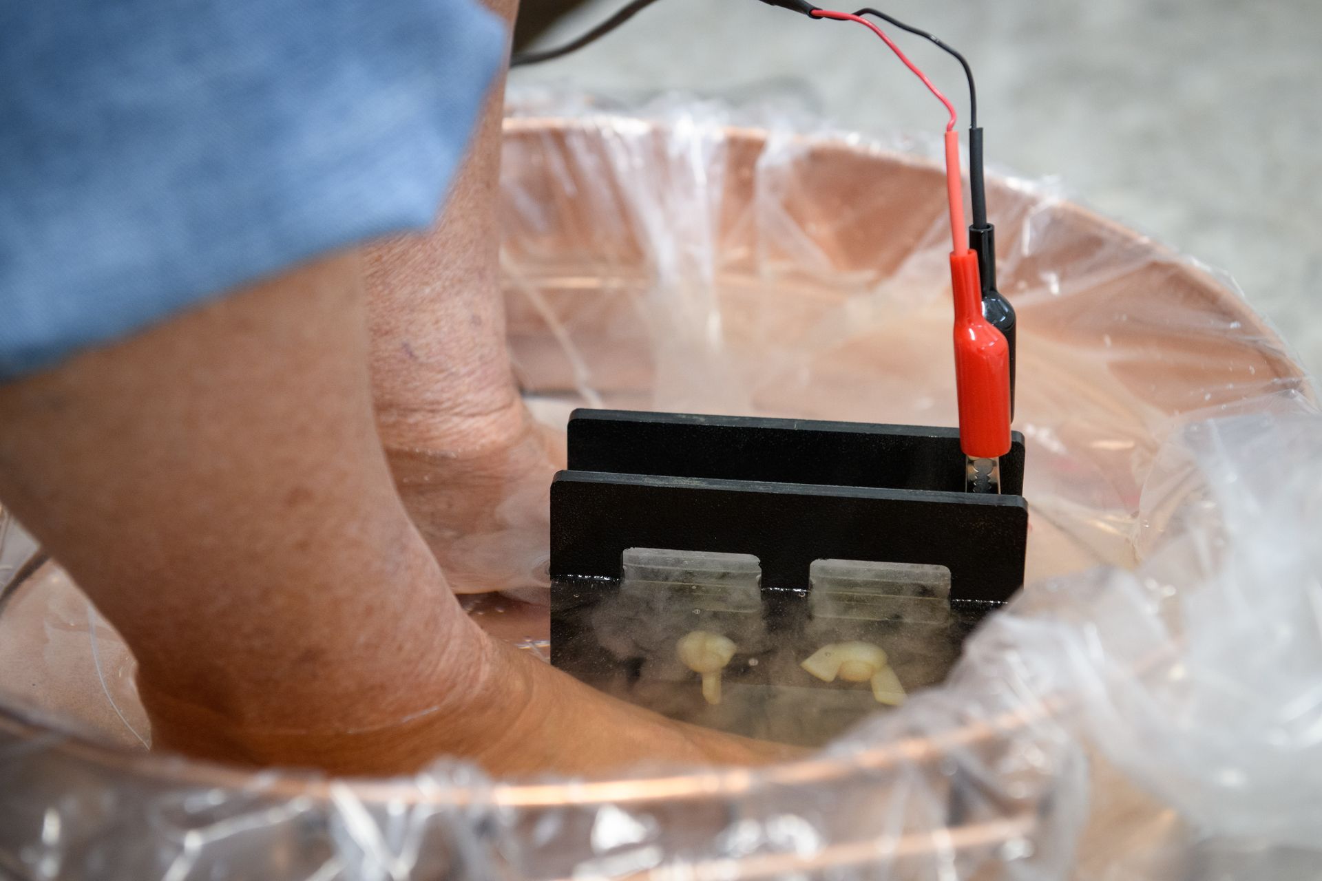
[[[1005,494],[985,495],[952,428],[576,411],[551,485],[551,663],[672,719],[821,744],[880,699],[814,678],[809,655],[859,641],[903,688],[936,684],[1019,589],[1023,466],[1015,435]],[[760,580],[747,557],[703,568],[711,552],[758,557]],[[698,631],[735,647],[711,704],[677,655]]]

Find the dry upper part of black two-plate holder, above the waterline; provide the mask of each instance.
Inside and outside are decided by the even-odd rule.
[[[952,605],[993,608],[1023,584],[1023,468],[1018,432],[992,495],[965,491],[953,428],[575,411],[551,486],[551,662],[628,548],[756,556],[772,631],[824,559],[943,565]]]

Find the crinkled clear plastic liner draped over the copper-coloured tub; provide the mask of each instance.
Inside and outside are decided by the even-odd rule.
[[[547,423],[580,404],[954,423],[924,145],[681,99],[522,106],[509,335]],[[944,686],[763,770],[245,773],[143,749],[131,658],[11,524],[0,877],[1314,877],[1307,379],[1225,279],[1043,184],[999,178],[989,201],[1019,309],[1031,577]]]

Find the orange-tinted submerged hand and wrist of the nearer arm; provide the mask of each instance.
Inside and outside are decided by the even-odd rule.
[[[639,762],[767,765],[804,753],[672,721],[594,691],[476,629],[471,639],[467,663],[440,670],[447,678],[440,705],[357,729],[262,730],[144,687],[153,746],[212,761],[296,763],[352,775],[416,773],[443,757],[472,759],[497,777],[579,777]],[[456,687],[460,667],[467,675]],[[418,696],[397,697],[407,703]]]

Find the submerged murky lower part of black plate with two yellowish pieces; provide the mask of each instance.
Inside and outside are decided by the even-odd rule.
[[[553,584],[558,667],[672,719],[804,746],[940,683],[982,612],[953,612],[931,565],[818,560],[781,590],[750,555],[629,548],[623,572]]]

